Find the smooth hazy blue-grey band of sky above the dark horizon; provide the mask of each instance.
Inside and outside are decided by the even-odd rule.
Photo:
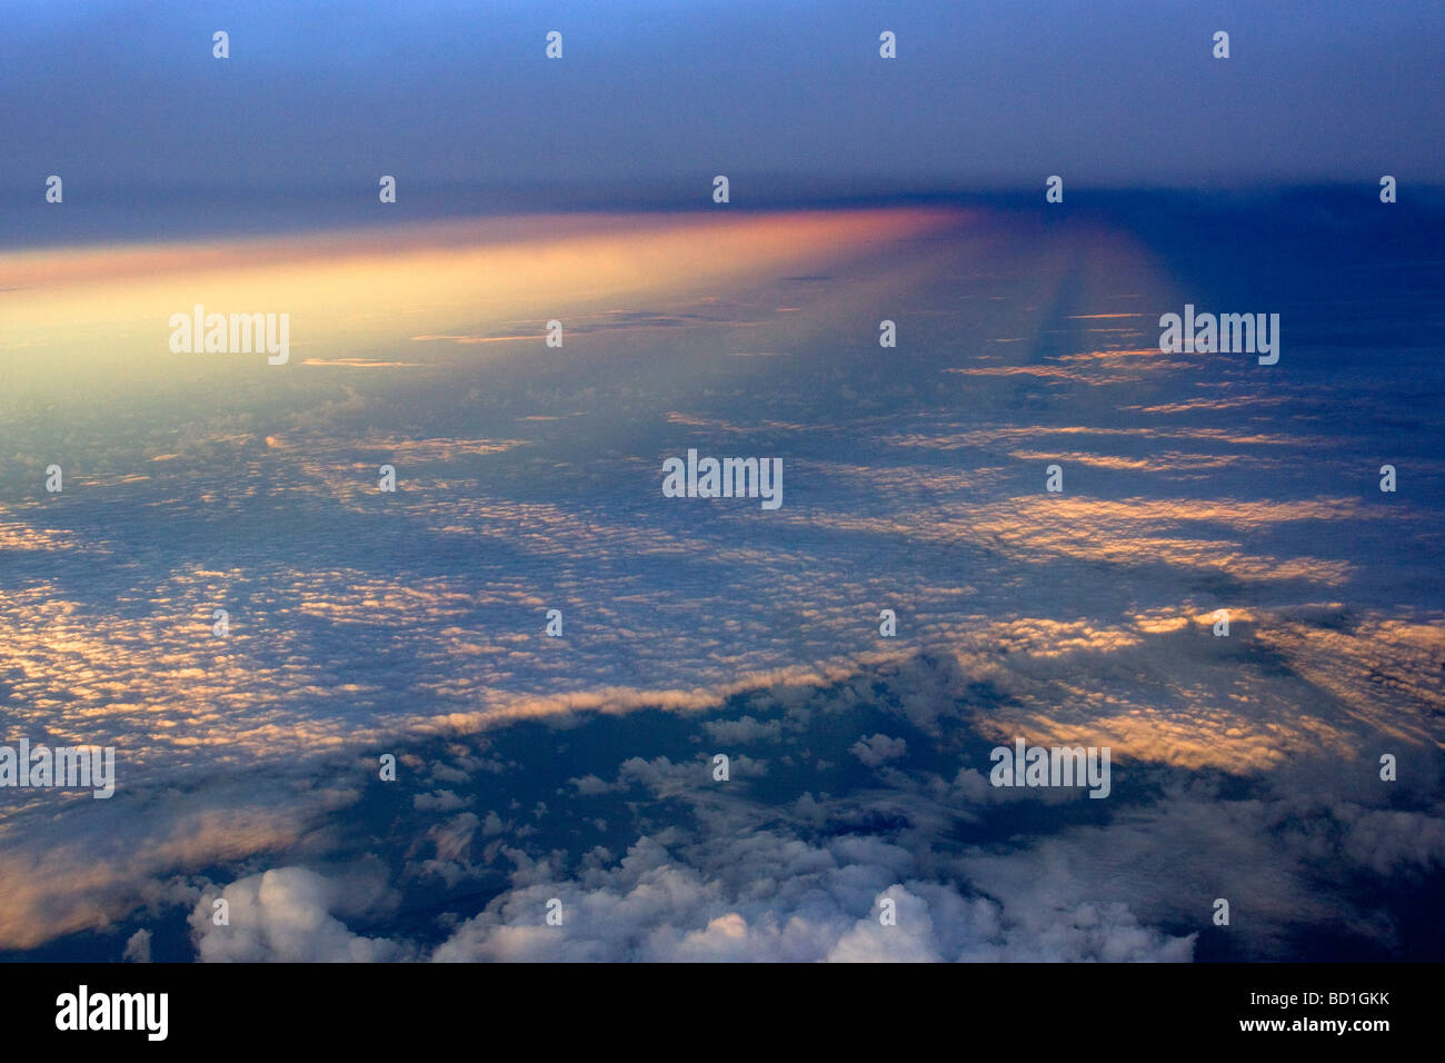
[[[0,3],[0,187],[1445,181],[1445,6]],[[211,33],[231,58],[211,58]],[[543,58],[546,30],[565,58]],[[897,33],[883,61],[879,32]],[[1211,56],[1231,35],[1233,56]]]

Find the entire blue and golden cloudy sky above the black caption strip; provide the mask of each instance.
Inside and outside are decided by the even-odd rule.
[[[0,957],[1445,947],[1438,7],[3,10]]]

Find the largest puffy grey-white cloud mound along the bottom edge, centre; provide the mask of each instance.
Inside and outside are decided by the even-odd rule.
[[[910,876],[907,852],[877,839],[811,845],[756,832],[709,834],[685,856],[643,837],[616,866],[536,878],[462,923],[434,953],[467,960],[1188,960],[1192,937],[1142,926],[1123,904],[1026,918],[985,897]],[[696,861],[696,863],[689,862]],[[905,876],[905,881],[899,878]],[[548,901],[562,924],[548,926]],[[896,923],[879,918],[881,901]]]

